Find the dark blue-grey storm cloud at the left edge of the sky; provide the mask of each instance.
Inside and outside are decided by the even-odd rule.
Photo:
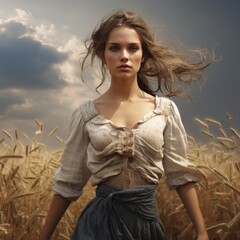
[[[31,29],[23,24],[1,24],[0,32],[0,89],[63,88],[66,82],[54,68],[66,55],[55,48],[30,38],[21,37]]]

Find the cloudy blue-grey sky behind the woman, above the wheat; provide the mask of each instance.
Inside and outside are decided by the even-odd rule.
[[[204,86],[188,89],[192,103],[173,99],[188,134],[204,140],[195,118],[239,129],[239,1],[0,0],[0,6],[0,140],[8,138],[3,131],[13,135],[17,129],[22,137],[43,141],[35,134],[36,119],[45,135],[57,127],[55,134],[66,138],[72,111],[98,96],[93,71],[86,84],[80,78],[83,41],[106,13],[119,8],[139,13],[168,44],[215,49],[217,61],[207,69]]]

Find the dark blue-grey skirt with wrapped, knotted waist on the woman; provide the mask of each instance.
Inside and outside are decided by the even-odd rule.
[[[72,240],[165,240],[156,186],[119,190],[100,184],[83,210]]]

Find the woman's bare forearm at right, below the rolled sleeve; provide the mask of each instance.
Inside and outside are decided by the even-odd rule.
[[[184,206],[187,209],[188,215],[197,232],[197,240],[208,240],[207,230],[203,221],[202,212],[199,206],[199,201],[196,189],[193,183],[187,183],[177,188],[177,193],[180,196]]]

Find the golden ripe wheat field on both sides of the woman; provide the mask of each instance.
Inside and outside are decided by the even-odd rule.
[[[240,134],[225,129],[214,119],[195,119],[208,139],[199,143],[188,136],[188,157],[208,175],[196,184],[200,205],[211,240],[240,239]],[[64,141],[58,128],[43,131],[43,123],[35,120],[32,137],[19,130],[0,133],[0,239],[35,240],[43,225],[52,198],[51,185],[59,166]],[[42,143],[38,136],[44,136]],[[41,138],[42,139],[42,138]],[[58,141],[59,150],[49,151],[48,141]],[[70,239],[77,218],[86,203],[94,197],[87,184],[79,200],[73,202],[52,239]],[[169,240],[196,237],[193,226],[175,191],[167,189],[162,178],[157,191],[159,215]]]

